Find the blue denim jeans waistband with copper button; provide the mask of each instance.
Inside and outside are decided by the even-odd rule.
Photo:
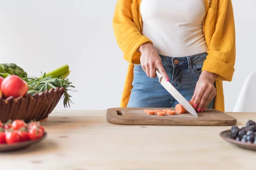
[[[171,65],[173,68],[181,66],[188,66],[189,68],[191,68],[193,64],[204,62],[206,56],[207,52],[187,57],[167,57],[160,55],[162,63],[165,65]]]

